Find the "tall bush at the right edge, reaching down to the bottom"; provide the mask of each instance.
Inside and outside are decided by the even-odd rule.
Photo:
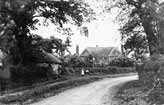
[[[137,70],[139,80],[149,90],[148,101],[153,104],[164,103],[164,57],[153,55],[144,61]]]

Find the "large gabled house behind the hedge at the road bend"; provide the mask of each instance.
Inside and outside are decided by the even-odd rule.
[[[108,64],[122,54],[116,47],[87,47],[80,55],[83,60],[92,56],[94,64]]]

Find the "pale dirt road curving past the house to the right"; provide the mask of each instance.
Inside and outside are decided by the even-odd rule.
[[[137,76],[106,78],[73,88],[32,105],[112,105],[111,99],[123,83]]]

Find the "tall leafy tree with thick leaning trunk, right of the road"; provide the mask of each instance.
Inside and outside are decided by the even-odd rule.
[[[147,51],[150,55],[161,51],[161,19],[158,18],[158,7],[155,5],[159,5],[157,0],[118,0],[114,4],[114,7],[120,9],[117,19],[120,21],[124,47],[136,57]]]

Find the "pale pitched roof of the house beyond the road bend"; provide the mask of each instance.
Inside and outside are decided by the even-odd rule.
[[[93,55],[95,57],[118,56],[121,52],[117,47],[87,47],[80,56]]]

